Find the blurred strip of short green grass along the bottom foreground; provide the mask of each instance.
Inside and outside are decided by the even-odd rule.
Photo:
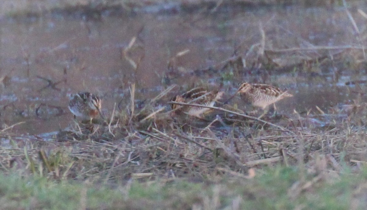
[[[277,166],[259,172],[252,179],[132,181],[113,188],[2,174],[0,209],[192,209],[196,206],[201,209],[335,210],[350,209],[352,201],[356,209],[366,205],[363,199],[366,189],[361,186],[367,182],[367,170],[334,179],[325,175],[316,182],[312,181],[316,175],[308,175],[299,185],[299,172],[294,167]],[[301,191],[294,187],[306,185],[308,187]]]

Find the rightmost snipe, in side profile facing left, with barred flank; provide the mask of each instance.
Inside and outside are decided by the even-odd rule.
[[[287,91],[282,91],[277,87],[267,84],[250,84],[247,82],[239,85],[236,94],[237,93],[244,97],[244,99],[250,102],[253,106],[260,107],[264,110],[264,113],[259,118],[266,114],[266,108],[270,104],[274,104],[283,98],[293,96],[292,94],[287,93]]]

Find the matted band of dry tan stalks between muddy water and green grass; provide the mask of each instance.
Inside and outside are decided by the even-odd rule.
[[[76,123],[47,138],[3,130],[2,138],[10,142],[1,148],[1,170],[52,179],[124,182],[131,177],[147,181],[247,175],[253,167],[297,166],[300,161],[307,170],[339,174],[343,164],[357,170],[367,162],[361,155],[366,148],[365,105],[265,120],[214,108],[198,119],[164,113],[155,101],[130,116],[114,110],[108,122],[93,127]]]

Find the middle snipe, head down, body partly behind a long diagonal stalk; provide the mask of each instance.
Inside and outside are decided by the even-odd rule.
[[[182,95],[176,95],[171,101],[184,102],[189,104],[198,104],[204,106],[214,106],[215,102],[222,98],[223,92],[207,91],[202,87],[193,88]],[[172,110],[180,110],[188,115],[200,117],[203,113],[210,110],[210,108],[203,108],[197,106],[181,106],[171,104]]]

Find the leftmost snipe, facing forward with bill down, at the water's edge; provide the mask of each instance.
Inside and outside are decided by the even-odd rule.
[[[83,119],[89,119],[92,123],[92,119],[97,117],[101,113],[101,99],[91,93],[78,93],[70,94],[70,102],[68,108],[70,112],[76,116],[82,117]]]

